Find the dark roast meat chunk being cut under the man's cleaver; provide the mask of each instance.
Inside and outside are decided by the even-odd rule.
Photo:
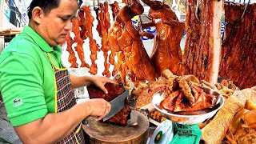
[[[87,86],[88,94],[90,99],[92,98],[103,98],[107,102],[112,101],[114,98],[117,98],[118,95],[124,93],[125,88],[122,86],[122,84],[113,84],[113,83],[106,83],[105,84],[106,90],[108,91],[108,94],[105,94],[98,86],[90,85]],[[130,117],[130,106],[125,106],[118,112],[118,114],[115,114],[114,117],[107,120],[107,122],[110,122],[112,124],[118,125],[118,126],[126,126],[127,120]]]

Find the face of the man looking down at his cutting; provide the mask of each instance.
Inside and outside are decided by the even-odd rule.
[[[42,37],[50,46],[57,46],[65,41],[66,34],[71,30],[71,20],[78,10],[76,0],[61,0],[58,8],[43,14],[39,24]]]

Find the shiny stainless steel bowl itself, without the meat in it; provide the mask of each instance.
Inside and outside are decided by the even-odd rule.
[[[214,114],[216,114],[217,111],[224,105],[224,98],[221,94],[218,94],[217,91],[206,88],[206,87],[203,87],[203,90],[206,94],[213,94],[217,96],[216,106],[214,107],[213,110],[211,110],[210,112],[207,112],[206,114],[180,115],[180,114],[169,113],[165,108],[163,108],[160,105],[162,100],[164,100],[164,98],[162,97],[163,95],[162,93],[164,91],[158,91],[157,93],[155,93],[151,103],[154,106],[154,108],[162,114],[162,116],[166,117],[167,119],[170,119],[170,121],[172,122],[177,122],[179,124],[187,124],[187,125],[199,124],[213,117]]]

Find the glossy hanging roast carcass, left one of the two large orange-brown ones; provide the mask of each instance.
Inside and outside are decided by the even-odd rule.
[[[130,13],[129,7],[124,6],[110,27],[110,49],[118,55],[116,67],[124,80],[130,75],[136,83],[154,81],[154,66],[143,46],[140,29],[132,24]]]

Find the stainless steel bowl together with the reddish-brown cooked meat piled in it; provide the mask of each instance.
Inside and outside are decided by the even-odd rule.
[[[158,91],[151,103],[170,121],[194,125],[212,118],[223,106],[224,98],[210,88],[190,86],[189,90]]]

